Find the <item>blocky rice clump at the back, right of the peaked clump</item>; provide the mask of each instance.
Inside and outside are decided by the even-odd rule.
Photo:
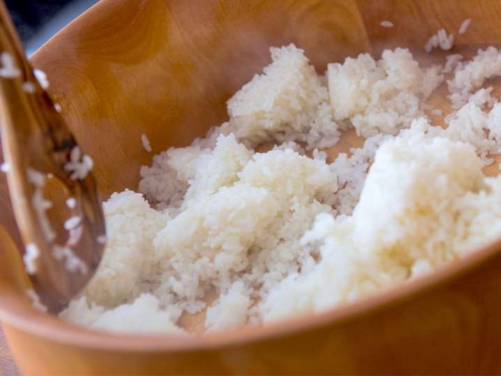
[[[419,68],[407,49],[385,50],[380,61],[369,54],[347,58],[327,68],[334,120],[350,121],[364,137],[407,128],[423,116],[421,100],[430,96],[444,77],[441,68]]]

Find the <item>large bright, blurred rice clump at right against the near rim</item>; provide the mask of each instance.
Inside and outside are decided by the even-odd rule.
[[[265,321],[353,301],[410,278],[417,264],[435,269],[468,252],[458,246],[465,237],[487,241],[466,217],[481,218],[481,211],[470,212],[475,200],[501,196],[475,193],[485,183],[474,149],[421,137],[398,137],[378,149],[352,216],[317,216],[303,242],[320,241],[321,260],[270,292],[260,303]],[[465,218],[454,220],[456,213]]]

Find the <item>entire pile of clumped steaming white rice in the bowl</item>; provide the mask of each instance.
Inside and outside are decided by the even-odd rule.
[[[186,314],[204,313],[207,331],[262,324],[403,283],[493,240],[501,178],[482,167],[500,153],[501,105],[486,89],[448,128],[424,114],[443,73],[474,63],[461,59],[420,68],[397,48],[323,76],[294,45],[271,48],[271,64],[228,100],[229,121],[154,156],[139,193],[103,204],[105,255],[60,317],[181,334]],[[449,87],[481,86],[460,82]],[[364,146],[330,162],[320,149],[350,128]]]

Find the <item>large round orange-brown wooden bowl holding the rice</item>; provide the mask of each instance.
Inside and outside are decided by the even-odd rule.
[[[465,18],[470,29],[458,35]],[[105,200],[136,188],[140,165],[151,162],[142,133],[158,153],[225,121],[225,100],[267,65],[271,45],[296,43],[322,72],[327,62],[398,45],[443,59],[422,52],[440,27],[456,34],[451,52],[471,54],[501,42],[500,19],[496,0],[101,0],[32,62],[96,161]],[[443,93],[435,104],[448,110]],[[357,142],[346,137],[338,149]],[[0,319],[26,375],[501,372],[501,242],[317,315],[203,337],[118,335],[31,307],[0,179]]]

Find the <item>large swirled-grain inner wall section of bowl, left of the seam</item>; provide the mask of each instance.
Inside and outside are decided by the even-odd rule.
[[[142,133],[158,153],[226,121],[225,101],[269,63],[270,46],[297,43],[320,70],[369,48],[354,1],[111,3],[33,56],[96,161],[103,200],[136,188],[140,165],[151,161]]]

